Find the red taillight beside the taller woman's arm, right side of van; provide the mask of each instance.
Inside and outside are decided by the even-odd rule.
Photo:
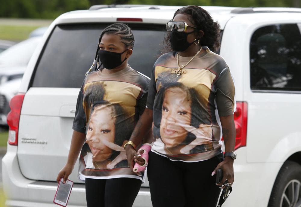
[[[240,147],[244,147],[247,144],[247,120],[247,102],[236,102],[236,111],[234,112],[234,123],[236,129],[235,150]]]

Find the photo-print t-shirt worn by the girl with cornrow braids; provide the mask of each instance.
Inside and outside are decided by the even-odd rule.
[[[73,129],[86,133],[79,158],[79,179],[138,178],[128,166],[123,145],[145,109],[150,79],[127,68],[87,75],[79,91]]]

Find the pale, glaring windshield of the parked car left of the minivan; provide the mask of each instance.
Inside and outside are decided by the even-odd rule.
[[[34,37],[15,44],[0,53],[0,66],[26,66],[41,37]]]

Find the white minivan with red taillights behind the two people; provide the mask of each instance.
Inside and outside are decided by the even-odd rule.
[[[57,173],[67,161],[79,88],[102,29],[127,23],[135,34],[129,64],[149,76],[165,24],[178,8],[101,5],[54,20],[11,100],[2,160],[6,205],[51,205]],[[219,54],[236,84],[235,182],[224,206],[300,206],[301,9],[203,8],[221,25]],[[70,179],[76,184],[69,205],[86,206],[77,169]],[[134,206],[152,206],[148,183]]]

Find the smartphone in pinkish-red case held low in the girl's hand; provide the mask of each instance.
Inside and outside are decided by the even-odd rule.
[[[67,179],[65,184],[63,181],[64,178],[61,178],[53,202],[57,205],[66,206],[73,187],[73,181]]]

